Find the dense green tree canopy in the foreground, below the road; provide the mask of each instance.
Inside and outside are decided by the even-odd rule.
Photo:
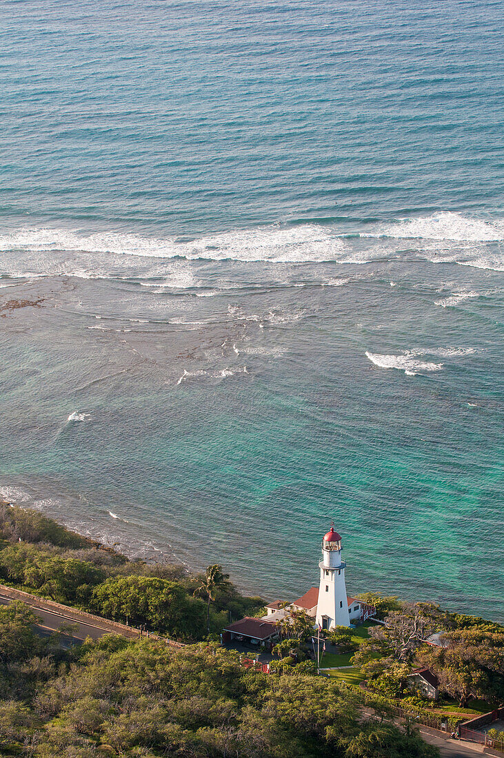
[[[246,671],[211,643],[108,635],[68,652],[36,640],[32,622],[23,606],[0,607],[2,756],[438,755],[415,731],[363,718],[358,693],[337,681]]]

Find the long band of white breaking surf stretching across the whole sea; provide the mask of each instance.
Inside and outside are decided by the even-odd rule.
[[[271,224],[196,239],[22,228],[0,235],[0,252],[14,252],[7,273],[15,277],[64,274],[83,279],[121,279],[132,275],[146,287],[187,289],[205,287],[194,279],[189,262],[366,264],[404,255],[404,240],[415,240],[415,254],[430,262],[504,268],[500,244],[504,240],[504,221],[469,218],[451,211],[367,224],[364,229],[361,226],[345,230],[335,224],[309,222],[293,227]],[[72,253],[74,258],[69,261],[68,254]],[[411,254],[411,250],[406,254]],[[171,261],[169,268],[167,261]],[[346,281],[331,277],[324,283],[340,286]],[[212,284],[201,296],[219,292]]]

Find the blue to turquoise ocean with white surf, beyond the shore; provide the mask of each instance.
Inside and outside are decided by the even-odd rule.
[[[501,19],[0,0],[0,492],[502,618]]]

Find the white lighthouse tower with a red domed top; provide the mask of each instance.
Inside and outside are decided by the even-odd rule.
[[[341,537],[331,526],[322,540],[321,584],[318,590],[317,623],[323,629],[349,626],[345,566],[341,557]]]

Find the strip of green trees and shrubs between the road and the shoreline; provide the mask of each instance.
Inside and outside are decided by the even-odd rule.
[[[191,576],[180,565],[130,561],[8,503],[0,503],[0,581],[189,642],[264,606],[239,594],[220,565]]]

